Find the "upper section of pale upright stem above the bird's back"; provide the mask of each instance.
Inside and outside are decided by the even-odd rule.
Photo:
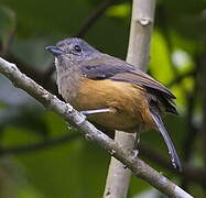
[[[147,70],[154,23],[155,0],[133,0],[127,61]]]

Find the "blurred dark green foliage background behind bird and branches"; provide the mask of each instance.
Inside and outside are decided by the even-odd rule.
[[[57,95],[45,46],[80,36],[124,59],[131,1],[1,0],[0,56]],[[140,156],[194,197],[206,197],[206,0],[158,0],[148,73],[177,97],[165,123],[183,162],[170,165],[161,135],[141,135]],[[58,96],[58,95],[57,95]],[[58,96],[61,98],[61,96]],[[0,75],[0,197],[101,197],[110,156]],[[164,197],[132,177],[129,198]]]

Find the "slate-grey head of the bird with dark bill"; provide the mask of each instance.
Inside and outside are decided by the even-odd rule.
[[[71,37],[59,41],[55,46],[47,46],[46,51],[51,52],[56,61],[63,63],[77,64],[85,59],[94,57],[98,51],[91,47],[87,42],[78,37]]]

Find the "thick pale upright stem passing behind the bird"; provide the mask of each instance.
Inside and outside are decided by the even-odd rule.
[[[127,62],[147,70],[149,61],[150,40],[154,21],[155,0],[133,0],[130,28],[129,48]],[[137,129],[139,132],[141,129]],[[115,140],[124,148],[132,151],[134,147],[135,134],[116,132]],[[111,158],[107,176],[105,198],[126,198],[130,183],[131,172],[123,165]]]

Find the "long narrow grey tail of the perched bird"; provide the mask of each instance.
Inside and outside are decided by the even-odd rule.
[[[172,165],[174,168],[176,168],[181,172],[182,170],[181,161],[180,161],[176,150],[172,143],[172,140],[164,127],[161,116],[155,109],[151,108],[150,110],[151,110],[152,119],[153,119],[154,123],[156,124],[160,133],[162,134],[164,142],[166,143],[169,154],[171,155]]]

